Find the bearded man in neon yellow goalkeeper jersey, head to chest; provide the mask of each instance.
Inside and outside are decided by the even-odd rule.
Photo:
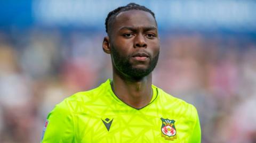
[[[131,3],[105,24],[113,80],[55,106],[42,142],[201,142],[196,108],[152,85],[160,48],[154,13]]]

